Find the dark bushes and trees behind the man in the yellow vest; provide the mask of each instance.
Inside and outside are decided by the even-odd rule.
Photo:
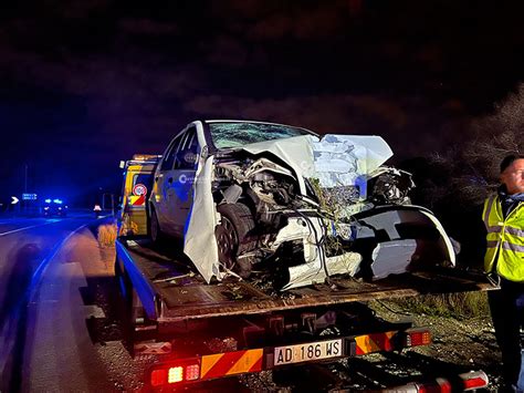
[[[432,209],[462,244],[462,263],[480,266],[482,204],[499,186],[502,158],[524,154],[524,84],[496,103],[492,113],[472,120],[462,132],[471,136],[461,146],[407,161],[402,167],[413,174],[413,203]]]

